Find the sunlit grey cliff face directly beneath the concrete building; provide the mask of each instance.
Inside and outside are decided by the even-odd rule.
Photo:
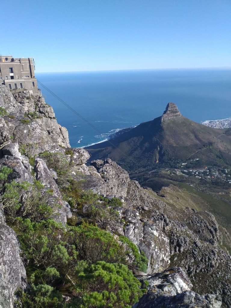
[[[64,151],[63,148],[70,147],[67,129],[57,123],[52,107],[41,95],[19,89],[13,93],[0,85],[0,106],[9,114],[5,120],[9,135],[14,137],[15,142],[32,155],[46,150]],[[3,140],[8,138],[7,129],[5,131],[2,132]]]

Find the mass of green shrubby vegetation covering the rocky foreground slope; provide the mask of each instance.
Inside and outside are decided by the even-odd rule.
[[[148,260],[130,240],[116,239],[105,230],[103,222],[114,217],[111,213],[119,219],[113,207],[121,206],[121,201],[117,198],[108,201],[92,191],[83,192],[81,185],[63,171],[67,165],[61,154],[45,153],[43,157],[66,183],[63,187],[58,181],[63,197],[73,201],[74,192],[72,206],[77,213],[83,205],[87,206],[87,220],[71,221],[65,227],[55,222],[40,182],[35,180],[32,185],[26,181],[21,184],[8,181],[12,169],[1,168],[0,193],[6,222],[18,236],[22,259],[29,260],[26,265],[29,288],[26,293],[17,292],[19,299],[15,305],[23,308],[131,307],[146,291],[141,289],[132,271],[145,271]],[[48,193],[52,195],[52,191]],[[105,213],[108,213],[106,218]],[[100,227],[96,223],[98,219]],[[63,304],[63,295],[73,296],[72,301]]]

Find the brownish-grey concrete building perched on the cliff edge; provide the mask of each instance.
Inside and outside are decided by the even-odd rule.
[[[34,77],[33,58],[13,58],[0,55],[0,83],[10,89],[25,88],[30,93],[40,92]]]

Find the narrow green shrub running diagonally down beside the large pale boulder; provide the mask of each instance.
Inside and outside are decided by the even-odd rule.
[[[130,252],[134,255],[135,260],[133,261],[132,267],[142,272],[146,272],[148,268],[148,258],[145,256],[144,252],[139,250],[139,248],[132,243],[127,237],[120,235],[120,241],[128,245]]]

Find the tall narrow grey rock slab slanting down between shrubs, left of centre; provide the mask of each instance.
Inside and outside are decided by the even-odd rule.
[[[63,200],[59,188],[53,178],[53,173],[47,168],[46,163],[41,158],[35,159],[36,179],[39,180],[45,187],[44,193],[48,189],[52,190],[52,195],[47,194],[47,202],[53,208],[53,218],[63,225],[67,222],[67,217],[71,217],[71,209],[69,204]],[[57,206],[58,205],[58,206]]]

